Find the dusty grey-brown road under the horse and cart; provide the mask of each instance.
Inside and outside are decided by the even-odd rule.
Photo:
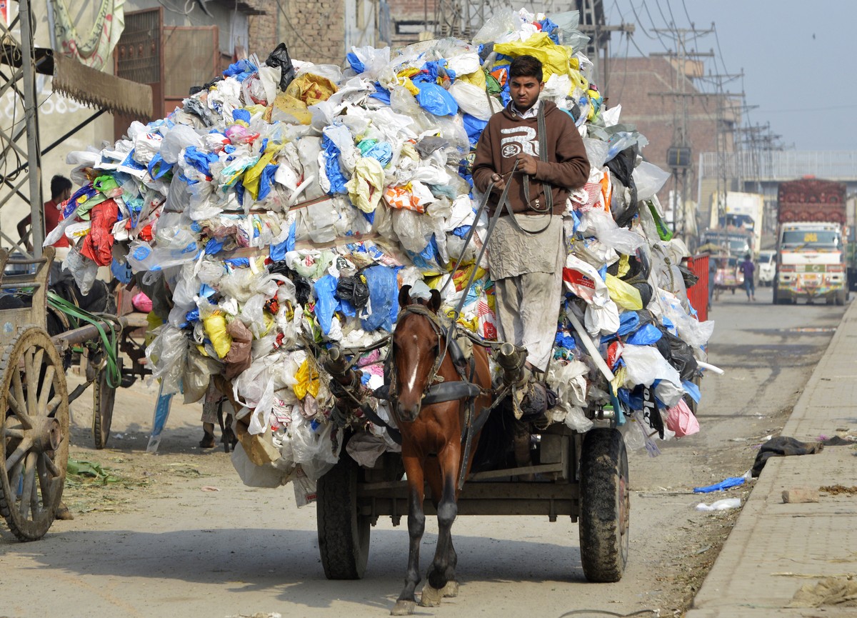
[[[631,556],[620,583],[585,582],[577,525],[567,519],[462,517],[452,529],[461,595],[417,614],[681,615],[736,517],[694,507],[748,491],[695,495],[692,488],[751,467],[754,446],[782,427],[842,316],[836,307],[772,306],[768,290],[757,297],[749,304],[727,295],[711,315],[710,362],[727,373],[704,380],[702,433],[662,444],[656,459],[630,453]],[[117,393],[104,451],[91,448],[87,399],[73,405],[71,457],[99,463],[110,477],[70,479],[65,501],[75,519],[57,521],[42,541],[17,543],[0,525],[0,616],[388,614],[405,576],[405,526],[382,519],[373,528],[365,579],[328,582],[315,507],[298,509],[291,486],[244,487],[228,455],[195,448],[199,405],[173,406],[159,454],[151,455],[154,387]],[[423,570],[435,532],[429,519]]]

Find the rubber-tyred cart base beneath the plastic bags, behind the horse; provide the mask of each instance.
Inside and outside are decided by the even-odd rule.
[[[559,516],[578,522],[586,579],[616,582],[628,556],[628,458],[612,412],[593,412],[585,434],[554,424],[536,435],[526,468],[471,474],[458,498],[459,515]],[[600,417],[600,418],[599,418]],[[399,453],[383,453],[367,469],[342,449],[339,463],[319,479],[317,526],[328,579],[360,579],[369,556],[371,526],[381,516],[398,525],[408,513]],[[539,480],[519,480],[533,475]],[[435,514],[426,487],[425,514]]]

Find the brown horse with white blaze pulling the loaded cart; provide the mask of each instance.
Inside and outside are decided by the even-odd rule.
[[[491,376],[485,349],[474,346],[472,361],[462,363],[456,353],[458,345],[446,340],[448,331],[437,316],[440,294],[432,291],[428,302],[415,303],[409,292],[410,286],[399,292],[401,312],[393,331],[391,351],[391,410],[402,434],[402,459],[408,477],[408,535],[411,537],[405,588],[391,612],[393,615],[412,614],[416,605],[414,592],[420,582],[420,542],[425,531],[425,483],[431,489],[439,533],[420,604],[439,605],[442,597],[458,594],[455,579],[458,556],[452,547],[451,530],[458,514],[456,502],[464,456],[464,431],[479,412],[491,404]],[[453,364],[453,358],[460,371]],[[469,398],[465,391],[475,399],[470,409],[472,414],[468,414]],[[428,398],[423,399],[427,394]],[[435,403],[430,403],[433,401]],[[474,435],[473,451],[477,440],[478,435]],[[472,458],[465,464],[465,476],[471,461]]]

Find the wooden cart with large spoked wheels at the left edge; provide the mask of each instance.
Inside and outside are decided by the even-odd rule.
[[[69,393],[63,355],[96,339],[87,325],[55,337],[47,331],[47,285],[54,249],[40,258],[9,260],[0,249],[0,290],[26,290],[32,303],[0,311],[0,515],[21,540],[45,536],[56,518],[69,459],[69,402],[93,384],[93,437],[104,447],[110,432],[116,387],[107,379],[105,350],[87,363],[87,382]],[[3,275],[7,264],[35,272]],[[123,318],[116,318],[121,325]],[[115,351],[114,351],[115,352]],[[120,367],[121,369],[121,367]]]

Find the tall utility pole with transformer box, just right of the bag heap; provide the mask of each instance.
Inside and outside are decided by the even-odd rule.
[[[674,63],[675,83],[673,90],[663,93],[666,96],[673,97],[674,103],[678,104],[673,107],[673,142],[667,150],[667,165],[673,171],[673,231],[679,237],[684,238],[686,237],[687,227],[685,220],[687,208],[687,171],[692,165],[692,144],[687,127],[687,99],[688,97],[700,96],[696,88],[692,87],[692,82],[688,76],[687,63],[699,57],[714,57],[713,51],[687,51],[687,39],[689,35],[692,35],[692,38],[696,39],[698,36],[713,33],[714,29],[697,30],[695,27],[672,27],[668,29],[655,28],[652,32],[666,34],[675,41],[676,51],[653,53],[651,56],[668,57],[670,62]]]

